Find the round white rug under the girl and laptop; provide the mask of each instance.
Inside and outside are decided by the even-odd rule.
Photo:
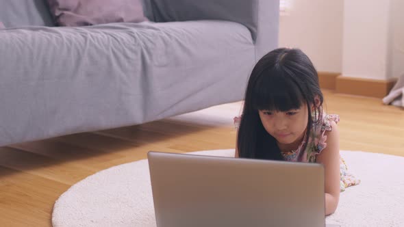
[[[231,157],[234,150],[192,152]],[[341,151],[361,179],[340,195],[327,223],[341,226],[404,226],[404,157]],[[117,165],[88,176],[62,194],[52,224],[62,226],[155,226],[147,160]]]

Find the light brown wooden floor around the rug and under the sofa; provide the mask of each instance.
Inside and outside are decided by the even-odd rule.
[[[404,156],[404,110],[375,98],[325,91],[327,111],[340,114],[342,150]],[[232,118],[240,103],[120,129],[80,133],[0,148],[0,226],[51,226],[55,200],[71,185],[149,150],[234,148]],[[366,160],[364,160],[366,161]]]

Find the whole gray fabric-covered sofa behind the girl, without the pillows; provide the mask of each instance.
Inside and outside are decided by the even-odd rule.
[[[0,146],[240,101],[277,47],[277,0],[143,4],[150,22],[53,27],[45,0],[0,0]]]

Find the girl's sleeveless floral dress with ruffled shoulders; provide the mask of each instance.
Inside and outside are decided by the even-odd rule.
[[[234,126],[238,129],[240,126],[241,116],[233,118]],[[310,136],[306,149],[303,151],[303,146],[305,144],[305,138],[303,138],[303,142],[301,142],[300,146],[296,150],[290,150],[288,152],[281,152],[283,159],[286,161],[299,161],[299,162],[307,162],[307,163],[315,163],[317,155],[320,154],[327,146],[327,135],[325,135],[326,131],[331,131],[331,121],[338,123],[340,121],[340,117],[336,114],[323,114],[323,118],[321,120],[317,120],[313,122],[313,130],[312,135]],[[301,159],[298,160],[299,154],[304,152],[301,155]],[[357,185],[360,183],[360,180],[353,176],[353,174],[348,172],[348,167],[342,157],[340,157],[340,189],[341,191],[345,191],[346,187],[350,187],[353,185]]]

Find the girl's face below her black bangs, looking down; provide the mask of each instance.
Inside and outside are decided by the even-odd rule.
[[[286,112],[260,110],[259,114],[265,130],[280,144],[293,144],[303,138],[309,114],[307,105]]]

